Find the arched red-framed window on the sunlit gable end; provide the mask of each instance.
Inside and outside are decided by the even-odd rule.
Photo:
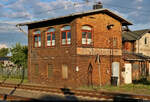
[[[92,44],[92,28],[90,26],[82,26],[82,44]]]

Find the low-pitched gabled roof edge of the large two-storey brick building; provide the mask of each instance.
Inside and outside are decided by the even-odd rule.
[[[46,21],[53,21],[53,20],[56,20],[56,19],[63,19],[63,18],[70,18],[70,17],[79,17],[79,16],[84,16],[84,15],[93,14],[93,13],[105,13],[105,14],[107,14],[107,15],[115,18],[115,19],[117,19],[118,21],[120,21],[122,23],[122,25],[132,25],[131,22],[129,22],[126,19],[124,19],[123,17],[115,14],[111,10],[102,8],[102,9],[90,10],[90,11],[87,11],[87,12],[73,13],[73,14],[70,14],[70,15],[67,15],[67,16],[58,17],[58,18],[50,18],[50,19],[45,19],[45,20],[40,20],[40,21],[20,23],[20,24],[17,24],[17,26],[31,25],[31,24],[36,24],[36,23],[41,23],[41,22],[46,22]]]

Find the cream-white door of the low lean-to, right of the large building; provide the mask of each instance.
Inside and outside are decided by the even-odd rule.
[[[132,83],[132,67],[131,64],[125,64],[125,84]]]

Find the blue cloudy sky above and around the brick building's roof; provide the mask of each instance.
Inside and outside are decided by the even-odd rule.
[[[150,29],[150,0],[0,0],[0,46],[27,45],[27,35],[15,26],[18,23],[88,11],[98,1],[132,22],[131,30]],[[27,32],[27,27],[23,29]]]

